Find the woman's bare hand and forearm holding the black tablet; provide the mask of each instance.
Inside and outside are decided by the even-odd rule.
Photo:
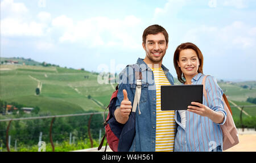
[[[188,106],[188,111],[199,114],[203,117],[208,117],[215,123],[222,123],[224,121],[224,113],[221,111],[216,112],[199,102],[191,102],[191,104],[196,106]]]

